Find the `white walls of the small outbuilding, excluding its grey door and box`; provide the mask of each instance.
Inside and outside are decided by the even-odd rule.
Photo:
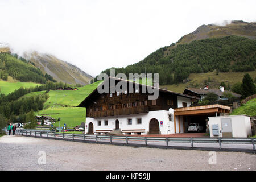
[[[210,137],[222,137],[222,133],[220,133],[219,136],[213,136],[212,134],[213,124],[218,124],[219,131],[222,130],[221,118],[231,118],[233,137],[247,137],[248,135],[251,135],[250,117],[246,115],[229,115],[209,117]]]

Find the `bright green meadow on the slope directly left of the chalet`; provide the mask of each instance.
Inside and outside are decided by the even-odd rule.
[[[85,122],[86,109],[76,106],[92,93],[99,83],[100,81],[85,85],[78,90],[50,90],[49,98],[44,103],[44,110],[36,112],[35,115],[48,115],[56,120],[60,118],[60,122],[56,121],[53,124],[55,127],[63,126],[64,123],[69,128],[80,125],[81,122]],[[31,92],[25,97],[35,96],[43,92]]]

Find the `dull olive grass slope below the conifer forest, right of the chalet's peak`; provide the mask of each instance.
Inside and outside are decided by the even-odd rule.
[[[171,90],[177,93],[183,93],[185,88],[203,88],[205,86],[205,81],[208,81],[210,78],[209,86],[210,88],[218,88],[222,81],[225,82],[227,85],[229,83],[230,86],[234,85],[236,82],[242,82],[243,76],[245,73],[249,73],[250,76],[253,78],[256,77],[256,71],[251,72],[225,72],[225,73],[218,73],[216,72],[208,72],[208,73],[191,73],[188,77],[189,82],[187,83],[180,83],[178,85],[160,85],[160,88]]]

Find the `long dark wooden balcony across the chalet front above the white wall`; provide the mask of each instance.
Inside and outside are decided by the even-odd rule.
[[[149,111],[148,106],[137,106],[137,107],[127,107],[122,109],[88,112],[86,117],[90,117],[90,118],[108,117],[108,116],[116,116],[116,115],[148,113],[148,111]]]

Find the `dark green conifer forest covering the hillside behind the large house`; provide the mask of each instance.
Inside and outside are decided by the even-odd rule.
[[[115,73],[144,73],[146,68],[146,73],[159,73],[160,85],[168,85],[183,82],[191,73],[244,72],[254,71],[255,67],[256,40],[226,36],[172,44],[139,63],[115,68]],[[110,69],[102,72],[110,74]]]

